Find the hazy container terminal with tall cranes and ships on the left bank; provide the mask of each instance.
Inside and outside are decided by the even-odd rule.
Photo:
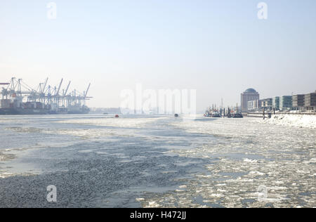
[[[0,83],[0,115],[88,114],[90,109],[86,106],[86,100],[92,98],[87,96],[91,84],[84,93],[75,89],[68,93],[71,81],[61,91],[62,81],[58,87],[52,87],[47,84],[47,78],[39,84],[37,90],[14,77],[9,83]]]

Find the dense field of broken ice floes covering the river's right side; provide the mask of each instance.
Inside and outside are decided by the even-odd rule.
[[[213,136],[180,156],[209,159],[207,172],[186,181],[185,192],[147,193],[143,207],[315,207],[315,129],[271,125],[256,118],[172,122]],[[167,203],[166,203],[167,202]]]

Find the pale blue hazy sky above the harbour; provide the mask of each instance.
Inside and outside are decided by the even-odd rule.
[[[88,105],[118,107],[123,89],[197,89],[197,109],[316,90],[316,1],[0,0],[0,81],[61,78]]]

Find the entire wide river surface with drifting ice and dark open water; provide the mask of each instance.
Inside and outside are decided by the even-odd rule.
[[[0,116],[0,207],[316,207],[316,130],[261,119]],[[48,202],[48,185],[57,202]]]

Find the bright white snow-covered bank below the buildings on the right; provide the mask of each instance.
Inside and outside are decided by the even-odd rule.
[[[316,129],[316,115],[272,115],[265,119],[268,124]]]

